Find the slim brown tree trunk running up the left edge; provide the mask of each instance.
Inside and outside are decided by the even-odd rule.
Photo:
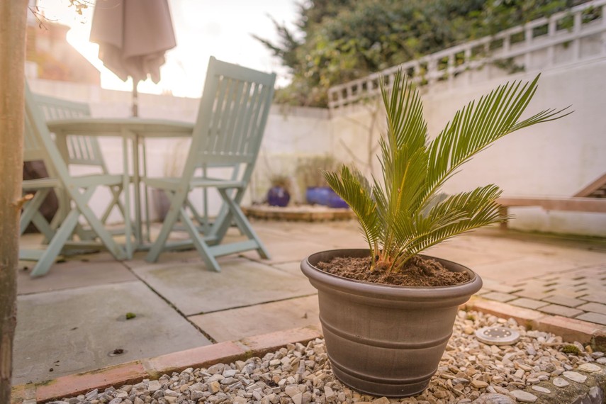
[[[0,1],[0,403],[11,402],[28,0]]]

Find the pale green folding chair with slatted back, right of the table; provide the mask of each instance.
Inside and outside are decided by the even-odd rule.
[[[145,258],[148,262],[155,262],[165,250],[191,245],[215,271],[220,271],[215,257],[227,254],[254,249],[261,257],[269,258],[242,213],[240,202],[259,154],[275,81],[276,74],[257,72],[211,57],[183,175],[181,178],[143,179],[147,186],[164,190],[171,200],[162,229]],[[230,178],[208,176],[207,170],[215,167],[229,167]],[[221,211],[210,226],[205,226],[206,215],[199,215],[189,201],[189,193],[197,188],[216,189],[223,200]],[[190,240],[168,241],[178,220],[189,233]],[[222,243],[232,223],[247,240]],[[201,232],[205,228],[207,230]]]

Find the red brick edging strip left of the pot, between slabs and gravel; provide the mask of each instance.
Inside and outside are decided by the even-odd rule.
[[[322,337],[312,325],[292,330],[271,332],[238,341],[220,342],[181,352],[141,359],[106,368],[71,374],[41,383],[13,386],[12,404],[46,403],[63,397],[86,393],[94,388],[120,387],[139,383],[145,378],[157,379],[162,374],[183,371],[189,367],[208,367],[220,362],[248,359],[273,352],[287,344],[307,343]]]

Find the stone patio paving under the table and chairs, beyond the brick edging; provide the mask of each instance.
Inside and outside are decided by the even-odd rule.
[[[254,252],[223,257],[220,273],[207,271],[195,251],[162,254],[155,264],[142,254],[125,262],[88,254],[38,279],[20,270],[13,383],[318,325],[315,289],[299,262],[321,249],[364,247],[357,224],[253,225],[272,259]],[[428,253],[476,270],[484,279],[481,298],[536,316],[555,310],[574,327],[605,329],[606,240],[491,228]],[[125,320],[127,312],[137,317]],[[116,348],[125,353],[108,356]]]

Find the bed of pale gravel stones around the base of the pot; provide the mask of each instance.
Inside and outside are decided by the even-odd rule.
[[[517,330],[520,341],[498,347],[476,340],[473,335],[476,330],[494,325]],[[563,350],[577,353],[565,354]],[[347,388],[333,376],[324,340],[317,339],[306,345],[289,344],[263,358],[215,364],[208,369],[189,368],[180,374],[164,375],[157,381],[145,379],[135,385],[94,390],[53,403],[446,404],[475,401],[507,404],[516,400],[532,403],[532,393],[527,392],[533,389],[532,386],[533,391],[541,393],[548,390],[538,386],[543,381],[565,386],[572,383],[576,375],[583,376],[577,370],[598,371],[596,364],[606,364],[604,354],[592,352],[590,347],[583,347],[578,342],[563,344],[561,337],[527,331],[514,320],[460,311],[437,374],[429,388],[415,397],[378,398]],[[603,367],[600,366],[599,371],[603,372]],[[495,400],[487,400],[490,397]]]

